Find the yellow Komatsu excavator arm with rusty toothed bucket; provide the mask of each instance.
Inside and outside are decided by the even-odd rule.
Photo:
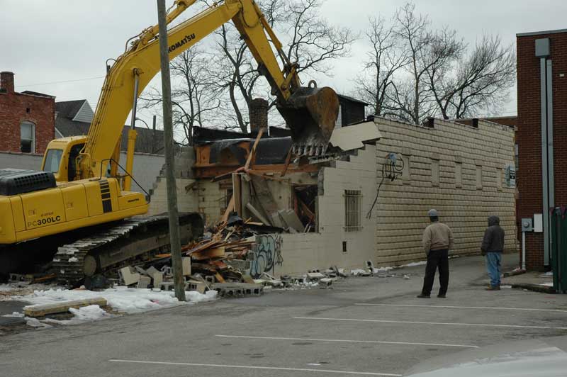
[[[195,1],[176,0],[167,14],[167,23],[174,21]],[[288,61],[281,43],[254,0],[225,0],[168,30],[169,60],[228,21],[235,24],[258,62],[260,72],[269,81],[272,93],[277,97],[277,107],[291,128],[294,152],[314,155],[325,152],[337,119],[337,95],[330,88],[300,86],[296,64]],[[101,176],[101,172],[106,171],[108,159],[115,152],[138,94],[159,72],[157,30],[157,25],[143,30],[108,70],[86,145],[79,157],[79,178]],[[283,61],[283,68],[270,41]],[[130,169],[133,142],[131,144],[132,150],[129,148],[128,151]]]

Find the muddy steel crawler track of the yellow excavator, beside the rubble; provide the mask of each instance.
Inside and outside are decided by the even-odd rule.
[[[181,242],[203,234],[198,213],[179,214]],[[52,268],[58,283],[78,286],[85,278],[108,274],[123,266],[149,261],[169,251],[167,215],[131,218],[57,248]]]

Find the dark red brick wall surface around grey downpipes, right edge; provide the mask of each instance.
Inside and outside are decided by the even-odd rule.
[[[567,33],[517,37],[517,88],[520,192],[517,217],[530,218],[544,213],[541,193],[541,106],[539,57],[535,40],[549,38],[553,61],[555,204],[567,206]],[[560,77],[565,74],[565,77]],[[542,233],[526,234],[528,269],[544,268]]]

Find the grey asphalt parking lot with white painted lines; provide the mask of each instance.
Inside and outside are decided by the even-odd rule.
[[[512,269],[517,259],[503,263]],[[419,299],[424,270],[7,335],[0,368],[6,376],[402,376],[437,356],[567,335],[565,295],[484,291],[483,259],[466,257],[450,261],[447,299]]]

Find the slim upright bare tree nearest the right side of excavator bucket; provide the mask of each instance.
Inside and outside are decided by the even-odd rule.
[[[405,50],[397,48],[398,37],[393,27],[386,25],[383,18],[369,18],[366,41],[370,45],[366,53],[363,73],[354,80],[356,95],[370,103],[371,111],[377,116],[396,116],[388,104],[395,73],[409,64]]]

